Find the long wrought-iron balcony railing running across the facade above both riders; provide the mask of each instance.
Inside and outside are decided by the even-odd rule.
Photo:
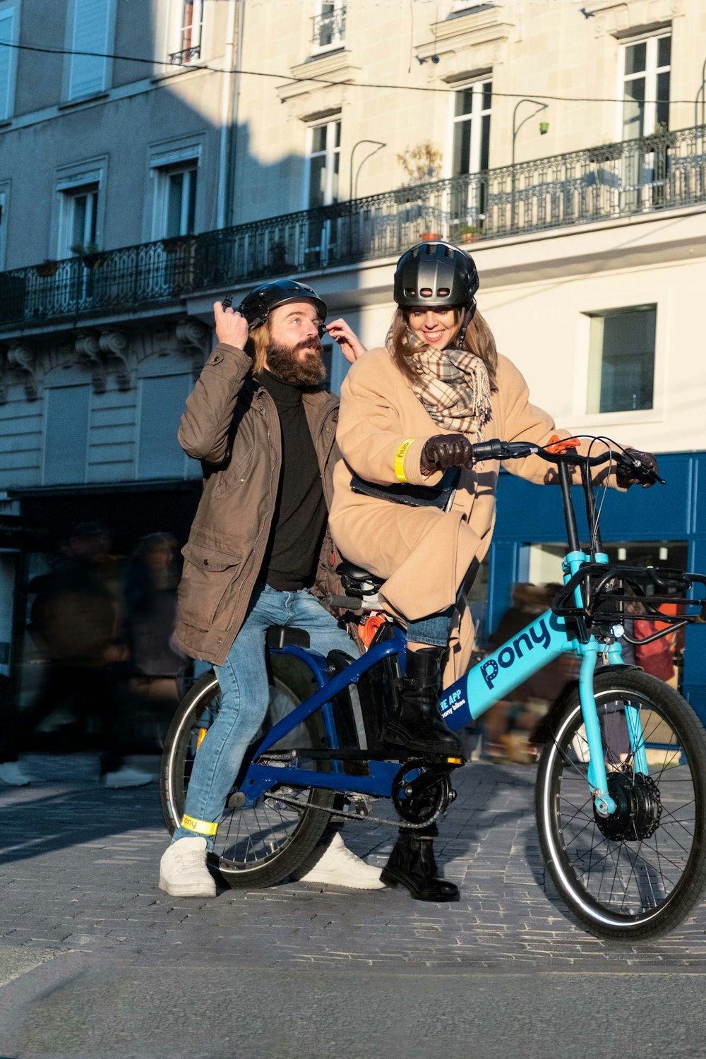
[[[128,313],[274,275],[706,203],[706,126],[0,273],[0,328]]]

